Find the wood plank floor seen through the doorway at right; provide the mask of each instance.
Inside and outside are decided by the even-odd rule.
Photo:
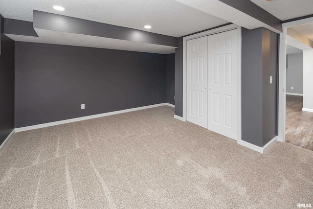
[[[302,107],[303,96],[286,95],[286,142],[313,150],[313,113]]]

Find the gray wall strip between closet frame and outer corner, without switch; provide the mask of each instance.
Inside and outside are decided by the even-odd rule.
[[[263,147],[262,28],[242,28],[242,140]]]

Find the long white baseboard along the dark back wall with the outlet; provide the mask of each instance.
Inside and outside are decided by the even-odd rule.
[[[114,111],[110,113],[102,113],[102,114],[97,114],[97,115],[92,115],[92,116],[76,117],[76,118],[67,119],[67,120],[60,120],[60,121],[55,121],[55,122],[50,122],[50,123],[43,123],[43,124],[38,124],[38,125],[26,126],[22,128],[16,128],[15,132],[28,131],[28,130],[38,129],[38,128],[45,128],[49,126],[61,125],[65,123],[72,123],[72,122],[77,122],[77,121],[82,121],[82,120],[89,120],[89,119],[104,117],[104,116],[112,116],[112,115],[117,115],[121,113],[128,113],[128,112],[144,110],[144,109],[149,109],[149,108],[154,108],[154,107],[160,107],[160,106],[165,106],[165,105],[167,105],[167,103],[136,107],[136,108],[119,110],[119,111]]]

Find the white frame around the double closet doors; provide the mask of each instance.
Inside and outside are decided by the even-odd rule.
[[[182,120],[186,121],[187,118],[187,41],[191,39],[200,38],[203,36],[212,35],[215,33],[221,33],[228,30],[237,28],[237,142],[241,141],[241,26],[236,24],[229,24],[222,27],[218,27],[212,30],[207,30],[201,33],[193,34],[190,36],[183,37],[183,73],[182,73],[182,83],[183,83],[183,91],[182,91]]]

